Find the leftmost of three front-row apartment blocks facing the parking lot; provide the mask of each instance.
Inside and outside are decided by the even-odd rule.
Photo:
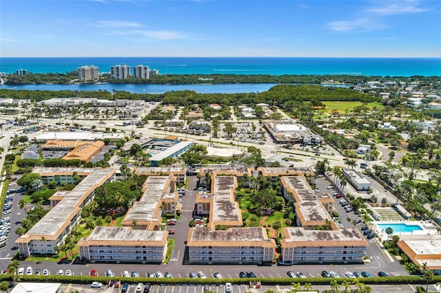
[[[167,253],[168,231],[132,230],[130,227],[96,227],[78,241],[80,259],[161,263]]]

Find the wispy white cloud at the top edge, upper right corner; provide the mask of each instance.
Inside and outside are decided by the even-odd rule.
[[[368,8],[366,12],[380,15],[421,13],[431,10],[432,8],[422,8],[418,1],[387,1],[376,3],[375,7]]]

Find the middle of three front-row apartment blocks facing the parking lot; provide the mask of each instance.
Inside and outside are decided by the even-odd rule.
[[[276,241],[263,227],[212,230],[190,228],[187,239],[189,263],[245,264],[271,263]]]

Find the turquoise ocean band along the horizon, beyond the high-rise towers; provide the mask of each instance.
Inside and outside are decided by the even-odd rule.
[[[0,57],[0,72],[27,69],[65,73],[83,65],[110,72],[112,65],[147,65],[160,74],[353,74],[365,76],[441,76],[441,58],[291,57]]]

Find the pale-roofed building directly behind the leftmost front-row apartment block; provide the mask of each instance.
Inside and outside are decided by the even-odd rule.
[[[141,199],[127,210],[121,224],[142,230],[161,230],[161,217],[176,215],[177,204],[176,177],[147,177]]]

